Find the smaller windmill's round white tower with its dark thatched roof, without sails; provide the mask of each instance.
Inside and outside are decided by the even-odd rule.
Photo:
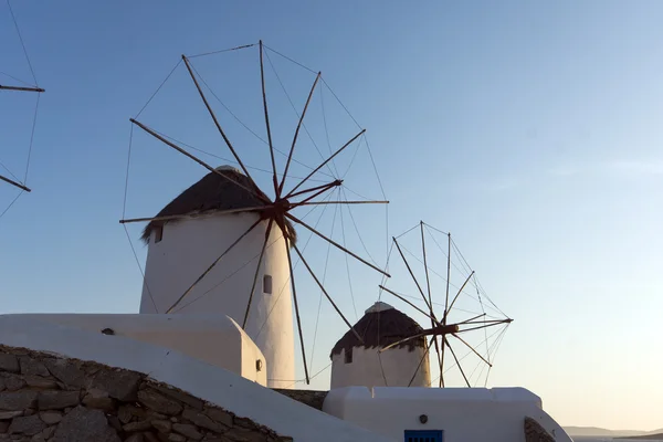
[[[348,332],[332,350],[332,388],[351,386],[430,387],[425,338],[412,339],[379,352],[389,344],[422,332],[417,322],[389,304],[378,302],[355,324],[361,344]],[[422,361],[423,359],[423,361]]]

